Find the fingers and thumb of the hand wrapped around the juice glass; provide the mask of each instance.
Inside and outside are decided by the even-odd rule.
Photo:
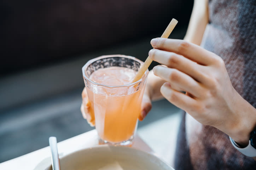
[[[141,102],[141,113],[138,117],[140,121],[142,121],[146,117],[152,107],[149,90],[150,88],[148,88],[146,84]],[[94,113],[91,111],[91,103],[88,100],[86,88],[84,88],[82,92],[81,113],[83,115],[83,118],[87,120],[89,125],[95,126],[95,116]]]

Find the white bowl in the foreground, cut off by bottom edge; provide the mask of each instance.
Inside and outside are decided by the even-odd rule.
[[[101,145],[60,158],[61,170],[174,170],[150,153],[124,146]],[[51,166],[47,169],[52,169]]]

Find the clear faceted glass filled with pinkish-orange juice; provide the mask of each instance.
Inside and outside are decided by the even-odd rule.
[[[132,144],[149,73],[147,70],[140,80],[132,83],[142,64],[135,57],[106,55],[83,66],[89,112],[95,116],[99,143]]]

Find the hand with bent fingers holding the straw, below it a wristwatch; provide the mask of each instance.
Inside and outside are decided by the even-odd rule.
[[[151,45],[150,58],[167,66],[153,68],[167,81],[162,95],[200,123],[248,143],[256,109],[233,88],[221,57],[184,40],[155,38]]]

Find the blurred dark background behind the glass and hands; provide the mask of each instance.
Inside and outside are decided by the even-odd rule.
[[[0,2],[0,162],[92,130],[80,113],[82,66],[124,54],[145,61],[150,40],[172,18],[185,36],[192,0],[2,0]],[[157,63],[153,63],[150,69]],[[139,127],[177,109],[153,103]],[[159,108],[158,108],[159,107]]]

